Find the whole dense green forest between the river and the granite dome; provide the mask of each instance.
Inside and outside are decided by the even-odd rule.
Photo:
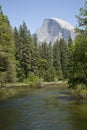
[[[0,7],[0,84],[67,80],[87,87],[87,1],[76,16],[76,39],[38,43],[25,22],[12,28]]]

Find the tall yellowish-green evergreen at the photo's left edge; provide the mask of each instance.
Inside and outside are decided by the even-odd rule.
[[[5,82],[16,81],[14,51],[13,31],[0,7],[0,76]]]

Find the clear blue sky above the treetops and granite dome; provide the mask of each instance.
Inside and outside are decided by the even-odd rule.
[[[44,19],[53,17],[76,26],[75,15],[84,3],[85,0],[0,0],[11,26],[19,27],[25,21],[31,33],[42,25]]]

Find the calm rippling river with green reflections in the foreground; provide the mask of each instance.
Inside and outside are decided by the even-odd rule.
[[[24,90],[0,101],[0,130],[87,130],[87,104],[63,88]]]

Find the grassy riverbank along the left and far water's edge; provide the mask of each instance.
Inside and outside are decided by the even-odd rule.
[[[8,98],[12,98],[18,95],[20,92],[24,90],[33,90],[33,89],[40,89],[40,88],[65,88],[68,84],[65,81],[58,81],[58,82],[41,82],[38,86],[31,86],[30,84],[24,83],[11,83],[11,84],[4,84],[3,87],[0,88],[0,100],[5,100]]]

